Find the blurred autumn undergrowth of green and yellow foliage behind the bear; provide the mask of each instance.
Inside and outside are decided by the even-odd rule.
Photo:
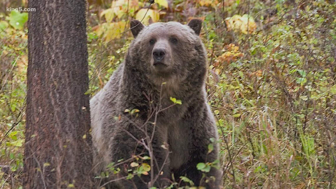
[[[336,188],[336,1],[88,0],[92,96],[123,61],[131,19],[204,20],[224,188]],[[22,188],[27,0],[0,2],[0,189]],[[126,31],[126,32],[124,32]]]

